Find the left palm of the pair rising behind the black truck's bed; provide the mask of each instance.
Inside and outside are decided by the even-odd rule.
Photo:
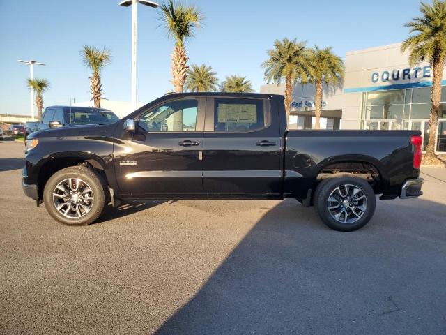
[[[297,42],[296,39],[289,40],[275,40],[274,48],[268,50],[270,57],[262,63],[265,68],[265,80],[268,84],[275,82],[280,84],[282,80],[285,81],[285,110],[286,119],[288,121],[291,98],[293,96],[293,86],[300,80],[306,82],[309,71],[309,53],[305,46],[305,42]]]

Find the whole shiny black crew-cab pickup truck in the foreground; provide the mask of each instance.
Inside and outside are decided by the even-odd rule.
[[[351,231],[376,194],[422,195],[420,135],[287,130],[283,96],[170,94],[114,124],[31,133],[22,186],[67,225],[121,200],[295,198]]]

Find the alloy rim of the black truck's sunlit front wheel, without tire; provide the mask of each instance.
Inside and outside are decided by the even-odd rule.
[[[93,207],[93,191],[82,179],[68,178],[54,188],[53,202],[57,211],[66,218],[80,218]]]

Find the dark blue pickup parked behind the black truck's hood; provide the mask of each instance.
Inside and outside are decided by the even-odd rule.
[[[35,131],[86,124],[111,124],[118,121],[111,110],[93,107],[50,106],[45,108],[39,122],[26,122],[25,139]]]

